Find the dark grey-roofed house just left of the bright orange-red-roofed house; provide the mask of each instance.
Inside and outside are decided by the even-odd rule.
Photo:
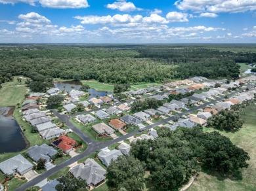
[[[30,158],[35,162],[37,162],[40,158],[50,162],[51,158],[57,154],[57,150],[47,144],[43,144],[40,146],[35,145],[30,147],[27,153],[28,156],[30,156]]]

